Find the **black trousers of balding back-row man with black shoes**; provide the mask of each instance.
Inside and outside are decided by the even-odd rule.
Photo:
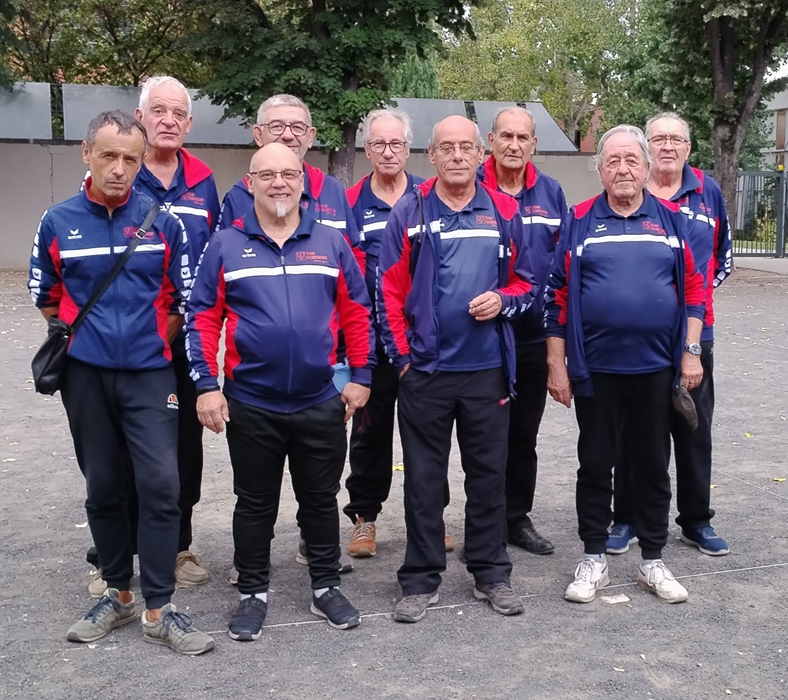
[[[547,343],[517,346],[517,398],[509,409],[506,522],[510,532],[530,524],[536,490],[536,438],[547,400]]]

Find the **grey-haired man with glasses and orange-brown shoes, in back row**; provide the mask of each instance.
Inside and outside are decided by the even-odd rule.
[[[405,171],[413,140],[411,119],[405,112],[390,107],[374,110],[362,121],[361,134],[373,172],[349,188],[347,198],[366,259],[367,290],[375,313],[380,244],[391,208],[424,179]],[[375,556],[375,522],[391,489],[398,377],[379,334],[376,341],[378,363],[372,371],[372,393],[364,410],[353,417],[350,476],[345,482],[350,501],[344,512],[353,522],[348,552],[354,557]]]

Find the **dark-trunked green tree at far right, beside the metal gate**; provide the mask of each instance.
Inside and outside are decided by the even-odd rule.
[[[788,0],[641,0],[620,80],[602,100],[608,123],[642,124],[679,112],[693,129],[694,161],[713,162],[734,211],[736,171],[758,166],[765,100],[785,80],[765,84],[788,50]]]

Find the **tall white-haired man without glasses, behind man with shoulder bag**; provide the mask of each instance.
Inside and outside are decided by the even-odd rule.
[[[191,97],[175,78],[156,76],[142,85],[137,118],[150,142],[135,187],[175,214],[186,228],[193,264],[208,243],[219,218],[219,195],[211,169],[183,148],[191,131]],[[181,527],[175,576],[180,585],[208,580],[208,571],[189,551],[192,544],[192,513],[200,500],[203,449],[202,425],[197,418],[197,394],[189,376],[186,333],[172,346],[172,366],[178,382],[178,473],[181,495]]]

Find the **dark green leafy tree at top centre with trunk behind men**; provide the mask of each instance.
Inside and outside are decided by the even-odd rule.
[[[392,71],[439,47],[436,28],[470,29],[462,0],[208,0],[205,12],[195,50],[216,72],[203,91],[250,120],[265,98],[297,95],[345,183],[361,117],[395,96]]]

